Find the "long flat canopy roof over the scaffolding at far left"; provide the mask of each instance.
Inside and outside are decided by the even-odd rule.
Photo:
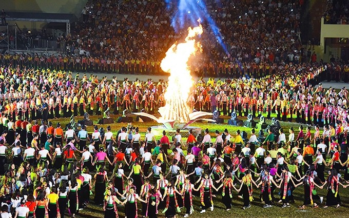
[[[75,14],[63,13],[31,13],[31,12],[6,12],[9,17],[8,21],[30,21],[30,22],[56,22],[56,23],[72,23],[76,21]]]

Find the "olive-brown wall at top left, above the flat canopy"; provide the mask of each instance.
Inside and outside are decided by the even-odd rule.
[[[1,9],[13,12],[72,13],[80,17],[87,0],[1,0]]]

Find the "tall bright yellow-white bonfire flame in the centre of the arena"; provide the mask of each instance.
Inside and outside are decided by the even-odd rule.
[[[165,121],[189,122],[191,109],[187,100],[193,80],[190,75],[188,60],[191,55],[201,51],[195,36],[202,34],[202,26],[188,28],[188,35],[183,43],[173,44],[161,62],[161,69],[170,73],[165,92],[166,105],[159,108],[161,119]]]

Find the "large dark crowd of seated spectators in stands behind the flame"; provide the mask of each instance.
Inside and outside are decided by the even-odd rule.
[[[301,44],[302,0],[206,4],[220,28],[226,50],[203,21],[204,32],[200,36],[203,52],[191,63],[192,70],[211,69],[217,73],[236,65],[242,70],[248,64],[284,66],[319,61],[310,48]],[[69,59],[92,56],[100,60],[116,58],[121,65],[132,60],[160,64],[167,49],[186,36],[186,28],[176,33],[170,26],[174,14],[176,7],[166,7],[163,0],[89,0],[80,22],[72,25],[72,33],[52,40]],[[33,37],[28,34],[24,39]],[[47,34],[39,35],[42,38]]]

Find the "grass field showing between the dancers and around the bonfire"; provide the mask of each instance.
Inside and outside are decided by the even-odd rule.
[[[79,120],[80,117],[76,117],[76,120]],[[90,117],[94,122],[97,120],[95,116]],[[225,116],[223,117],[225,119],[225,123],[227,123],[227,120],[229,117]],[[135,119],[133,119],[135,120]],[[60,118],[58,120],[53,121],[53,126],[55,126],[56,122],[61,122],[63,124],[62,126],[65,126],[69,121],[64,118]],[[268,124],[270,124],[270,121],[267,121]],[[159,125],[156,122],[147,122],[147,123],[138,123],[138,122],[133,122],[133,126],[139,127],[140,133],[142,135],[142,140],[144,140],[144,133],[146,132],[147,127],[149,126],[157,126]],[[281,126],[284,129],[284,132],[286,134],[286,138],[288,136],[288,129],[293,126],[295,129],[295,134],[298,134],[298,127],[300,124],[296,123],[288,123],[288,122],[280,122]],[[127,124],[125,123],[114,123],[111,124],[111,129],[112,132],[116,134],[116,132],[123,126],[126,126]],[[106,128],[108,125],[99,125],[102,126],[103,128]],[[228,126],[226,124],[207,124],[207,123],[194,123],[192,126],[197,126],[202,128],[203,130],[208,128],[210,130],[210,135],[215,137],[214,131],[219,130],[220,132],[224,131],[225,128],[229,130],[229,133],[232,136],[235,136],[236,131],[240,129],[240,131],[245,130],[248,134],[250,134],[250,129],[245,128],[245,127],[235,127],[235,126]],[[305,128],[304,128],[305,129]],[[92,132],[93,129],[92,127],[88,127],[87,130],[89,132]],[[258,131],[256,131],[258,132]],[[314,128],[312,130],[314,133]],[[156,139],[160,139],[161,135],[157,135]],[[186,140],[186,138],[183,138],[183,140]],[[183,149],[185,150],[185,149]],[[110,172],[109,172],[110,173]],[[111,173],[110,173],[111,174]],[[251,208],[247,210],[242,209],[242,199],[238,199],[237,193],[234,191],[233,196],[233,206],[230,211],[225,211],[225,206],[221,202],[221,196],[217,196],[214,199],[214,204],[215,204],[215,209],[214,211],[207,211],[206,213],[200,214],[200,197],[194,197],[193,198],[193,205],[194,205],[194,210],[195,212],[190,215],[189,217],[192,218],[197,218],[197,217],[227,217],[227,216],[232,216],[232,217],[331,217],[331,216],[336,216],[336,217],[349,217],[349,189],[343,189],[342,187],[339,188],[339,193],[341,196],[341,207],[339,208],[322,208],[324,206],[324,203],[320,205],[319,208],[311,208],[311,207],[306,207],[304,210],[298,209],[298,206],[301,206],[303,203],[303,186],[299,186],[296,188],[294,191],[294,196],[295,196],[295,203],[291,204],[291,207],[289,208],[281,208],[281,204],[278,204],[277,201],[279,200],[279,189],[276,189],[275,191],[275,196],[278,199],[275,203],[275,205],[272,208],[262,208],[262,203],[260,202],[259,194],[260,194],[260,189],[257,190],[256,187],[254,187],[254,199],[255,201],[251,204]],[[93,190],[94,193],[95,190]],[[317,190],[318,194],[320,196],[324,196],[324,202],[326,201],[326,190]],[[93,199],[93,196],[91,196],[91,199]],[[141,206],[139,205],[139,216],[141,217]],[[119,216],[124,217],[124,206],[119,205]],[[182,208],[182,212],[178,214],[178,217],[183,217],[185,209]],[[159,211],[158,216],[159,217],[164,217],[164,215],[161,213],[162,211]],[[76,217],[104,217],[103,213],[103,207],[102,206],[96,206],[93,204],[88,205],[87,208],[84,210],[80,211],[79,214],[76,215]]]

